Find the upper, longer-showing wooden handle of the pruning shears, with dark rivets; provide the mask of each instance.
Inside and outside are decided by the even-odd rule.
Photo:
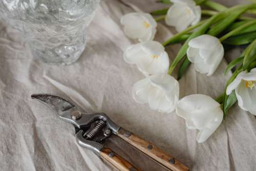
[[[143,140],[142,138],[134,135],[133,133],[120,129],[117,136],[122,138],[124,141],[130,143],[132,146],[136,147],[139,151],[143,152],[147,156],[161,163],[165,167],[174,171],[186,171],[188,167],[176,160],[174,157],[167,155],[162,149],[156,147],[155,145]]]

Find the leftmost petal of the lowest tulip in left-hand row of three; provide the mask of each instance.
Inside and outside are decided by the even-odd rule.
[[[133,98],[138,103],[147,103],[148,102],[148,92],[152,88],[150,80],[144,78],[136,82],[133,86]]]

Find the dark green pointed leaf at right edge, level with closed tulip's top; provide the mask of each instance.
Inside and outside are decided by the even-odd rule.
[[[222,41],[224,44],[228,45],[246,45],[252,42],[254,39],[256,39],[256,32],[252,33],[246,33],[246,34],[241,34],[237,36],[231,36],[224,41]]]

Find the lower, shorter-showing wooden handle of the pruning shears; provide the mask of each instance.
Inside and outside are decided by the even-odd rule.
[[[110,162],[114,167],[120,171],[139,171],[135,166],[124,160],[122,157],[118,156],[109,148],[103,148],[100,151],[100,156],[102,159]]]

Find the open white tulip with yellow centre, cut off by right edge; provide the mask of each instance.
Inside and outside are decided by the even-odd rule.
[[[249,73],[243,71],[229,84],[226,94],[229,95],[233,90],[236,92],[238,105],[245,111],[256,115],[256,68]]]

